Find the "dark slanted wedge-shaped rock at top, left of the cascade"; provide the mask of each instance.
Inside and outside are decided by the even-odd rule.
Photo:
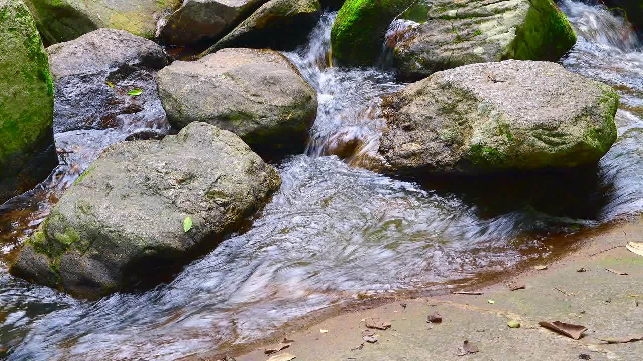
[[[320,13],[318,0],[270,0],[201,56],[239,46],[284,48],[296,45],[293,41],[305,38]]]

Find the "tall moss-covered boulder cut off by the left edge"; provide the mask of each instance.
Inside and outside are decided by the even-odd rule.
[[[47,53],[21,0],[0,0],[0,204],[58,164]]]

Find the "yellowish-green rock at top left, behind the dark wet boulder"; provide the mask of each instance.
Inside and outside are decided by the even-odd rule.
[[[98,28],[154,38],[156,23],[181,0],[25,0],[48,44],[73,40]]]

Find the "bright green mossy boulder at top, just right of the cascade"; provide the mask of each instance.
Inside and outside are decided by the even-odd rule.
[[[332,57],[340,66],[375,64],[386,29],[415,0],[347,0],[331,30]]]

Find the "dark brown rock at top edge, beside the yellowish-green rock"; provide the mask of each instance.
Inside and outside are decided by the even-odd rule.
[[[266,0],[185,0],[172,13],[159,40],[183,46],[219,40]]]

